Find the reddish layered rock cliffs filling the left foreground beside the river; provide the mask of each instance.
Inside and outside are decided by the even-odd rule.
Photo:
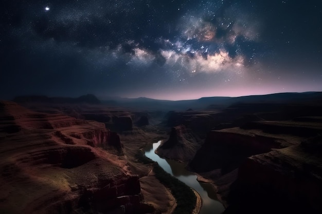
[[[0,119],[1,213],[154,211],[104,124],[13,102],[0,102]]]

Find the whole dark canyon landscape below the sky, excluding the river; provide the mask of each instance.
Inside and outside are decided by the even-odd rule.
[[[142,161],[187,162],[224,213],[322,213],[322,92],[0,101],[0,213],[173,213]]]

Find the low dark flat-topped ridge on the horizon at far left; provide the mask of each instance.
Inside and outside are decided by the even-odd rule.
[[[88,103],[88,104],[101,104],[101,101],[94,94],[86,94],[79,96],[78,98],[64,98],[64,97],[52,97],[44,95],[23,95],[16,96],[13,100],[16,103]]]

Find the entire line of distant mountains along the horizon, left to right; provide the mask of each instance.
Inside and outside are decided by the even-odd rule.
[[[160,110],[160,111],[185,111],[193,110],[212,110],[224,109],[228,106],[240,104],[265,104],[265,103],[318,103],[322,102],[322,92],[287,92],[265,95],[249,95],[239,97],[229,96],[213,96],[200,98],[198,100],[155,100],[150,98],[119,98],[110,97],[100,101],[93,94],[86,94],[78,98],[63,98],[44,95],[25,95],[17,96],[13,99],[17,103],[41,102],[41,103],[88,103],[88,104],[104,104],[110,107],[124,107],[136,110]]]

